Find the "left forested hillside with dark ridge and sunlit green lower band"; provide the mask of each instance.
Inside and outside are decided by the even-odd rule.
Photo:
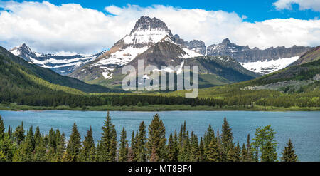
[[[34,88],[35,90],[41,87],[46,87],[46,89],[50,89],[49,87],[58,87],[59,89],[67,90],[68,93],[78,93],[78,90],[85,93],[110,91],[109,88],[105,88],[104,86],[87,84],[76,78],[61,76],[48,68],[42,68],[36,64],[28,63],[23,58],[15,56],[1,46],[0,57],[2,67],[0,74],[4,76],[4,78],[7,78],[7,80],[4,80],[4,78],[1,77],[1,81],[6,82],[7,84],[4,83],[3,85],[8,86],[9,89],[12,89],[13,86],[23,89],[24,85],[28,85],[28,87]],[[13,75],[12,73],[15,72],[21,74],[21,76]],[[9,86],[8,83],[12,83],[13,85]],[[65,88],[61,88],[60,86],[64,86]]]

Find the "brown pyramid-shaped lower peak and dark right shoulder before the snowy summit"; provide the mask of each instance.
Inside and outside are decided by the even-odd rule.
[[[138,61],[141,60],[144,61],[144,68],[146,66],[156,66],[157,69],[154,71],[175,73],[175,75],[182,73],[183,66],[198,66],[200,88],[247,81],[260,76],[258,73],[243,68],[240,63],[230,56],[191,57],[170,36],[166,36],[161,41],[155,43],[154,46],[139,54],[127,65],[134,66],[137,71]],[[174,71],[171,68],[161,70],[161,66],[173,66],[174,68],[178,68],[178,70]],[[120,86],[119,84],[125,76],[122,75],[123,67],[118,68],[112,73],[113,77],[107,81],[106,85]],[[137,77],[137,74],[130,76]],[[144,75],[144,79],[149,78],[151,78],[151,75]]]

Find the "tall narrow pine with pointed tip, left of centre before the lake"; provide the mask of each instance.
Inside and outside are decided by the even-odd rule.
[[[110,113],[107,112],[107,118],[102,127],[102,137],[100,142],[99,160],[102,162],[112,162],[116,159],[117,133],[114,125],[111,123]]]

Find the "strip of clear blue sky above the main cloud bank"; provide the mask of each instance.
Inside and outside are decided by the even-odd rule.
[[[80,4],[82,7],[96,9],[98,11],[104,11],[105,6],[127,6],[127,4],[139,5],[142,7],[152,6],[154,4],[161,4],[164,6],[180,7],[182,9],[206,9],[208,11],[228,11],[235,12],[240,16],[245,15],[247,19],[245,21],[264,21],[266,19],[315,19],[320,17],[319,11],[312,11],[311,9],[299,10],[298,4],[292,4],[292,9],[277,10],[273,3],[277,0],[184,0],[184,1],[172,1],[172,0],[136,0],[136,1],[106,1],[106,0],[55,0],[50,1],[55,5],[75,3]],[[317,1],[317,0],[314,0]],[[18,2],[22,2],[19,0]],[[42,1],[39,1],[42,2]]]

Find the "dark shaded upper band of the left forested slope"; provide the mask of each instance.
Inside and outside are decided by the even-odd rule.
[[[86,93],[102,93],[110,91],[110,89],[103,86],[90,85],[75,78],[61,76],[48,68],[42,68],[40,66],[36,66],[35,64],[28,63],[23,58],[15,56],[1,46],[0,56],[4,63],[9,64],[10,66],[12,65],[14,67],[18,66],[18,69],[21,69],[28,75],[31,75],[34,79],[41,79],[42,81],[46,81],[50,84],[65,86],[68,88],[73,88],[74,90],[81,90]]]

